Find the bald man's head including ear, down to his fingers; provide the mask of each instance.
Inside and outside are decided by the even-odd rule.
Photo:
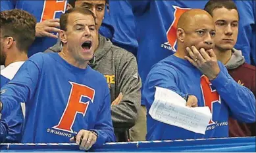
[[[213,48],[215,24],[213,18],[205,10],[187,10],[180,16],[177,25],[177,52],[186,53],[186,47],[195,46],[197,49]]]

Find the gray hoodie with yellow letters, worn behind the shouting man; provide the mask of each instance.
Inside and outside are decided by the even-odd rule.
[[[61,41],[45,52],[61,52]],[[136,58],[130,52],[119,48],[99,35],[99,46],[91,59],[91,68],[99,71],[110,87],[111,101],[122,92],[123,98],[118,105],[111,106],[113,126],[118,139],[120,133],[134,126],[141,104],[141,79],[138,75]]]

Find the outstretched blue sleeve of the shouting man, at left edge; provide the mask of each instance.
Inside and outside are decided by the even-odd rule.
[[[10,116],[21,101],[26,103],[27,99],[34,95],[40,73],[39,67],[43,64],[41,54],[25,61],[14,78],[1,88],[0,101],[2,108],[0,108],[0,111],[3,116]]]

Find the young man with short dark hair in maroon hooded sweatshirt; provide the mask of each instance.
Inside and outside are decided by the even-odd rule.
[[[228,69],[228,73],[241,86],[245,86],[256,95],[255,67],[245,63],[241,50],[234,48],[238,39],[239,12],[233,1],[211,0],[205,10],[213,16],[216,36],[213,49],[217,59]],[[245,47],[246,48],[246,47]],[[245,124],[234,118],[229,119],[230,137],[255,136],[255,123]]]

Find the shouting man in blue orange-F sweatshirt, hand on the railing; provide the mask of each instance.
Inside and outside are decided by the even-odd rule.
[[[60,25],[62,51],[28,59],[1,88],[0,112],[10,116],[24,101],[22,143],[70,143],[76,134],[83,150],[113,142],[109,88],[88,66],[97,45],[95,16],[88,9],[69,9]]]

